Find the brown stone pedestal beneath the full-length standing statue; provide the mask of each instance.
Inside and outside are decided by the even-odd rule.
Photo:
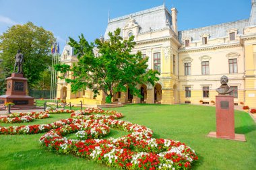
[[[5,102],[15,103],[15,107],[25,108],[34,106],[34,97],[26,95],[28,79],[22,73],[11,73],[7,81],[7,91],[5,95],[0,95],[0,104]]]

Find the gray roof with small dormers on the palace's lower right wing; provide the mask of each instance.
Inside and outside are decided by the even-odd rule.
[[[238,29],[237,34],[243,34],[243,29],[247,26],[249,19],[243,19],[236,22],[227,22],[224,24],[218,24],[214,26],[207,26],[202,28],[195,28],[191,30],[179,31],[179,40],[183,41],[183,38],[191,37],[192,41],[201,40],[202,34],[210,34],[210,38],[226,37],[227,31],[235,28]]]

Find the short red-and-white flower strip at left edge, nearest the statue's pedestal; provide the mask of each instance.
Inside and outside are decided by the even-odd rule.
[[[2,123],[21,123],[21,122],[32,122],[34,119],[45,119],[49,118],[49,114],[32,112],[32,113],[15,113],[10,115],[0,116],[0,122]]]

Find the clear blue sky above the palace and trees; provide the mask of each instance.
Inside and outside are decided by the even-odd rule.
[[[104,35],[110,18],[162,5],[164,0],[0,0],[0,34],[13,24],[33,22],[55,34],[61,44],[81,33],[89,42]],[[176,7],[178,29],[187,30],[248,19],[251,0],[165,0]]]

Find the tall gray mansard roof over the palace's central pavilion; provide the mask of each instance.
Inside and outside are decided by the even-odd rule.
[[[125,15],[123,17],[117,17],[114,19],[109,19],[108,26],[106,27],[106,32],[104,34],[104,39],[108,39],[108,32],[114,32],[117,28],[123,29],[127,23],[129,17],[135,19],[136,24],[139,24],[139,34],[144,32],[152,32],[156,30],[162,30],[164,28],[170,28],[171,25],[171,13],[165,7],[161,5],[151,9],[139,11],[136,13],[131,13],[130,15]],[[123,32],[121,31],[121,36]]]

